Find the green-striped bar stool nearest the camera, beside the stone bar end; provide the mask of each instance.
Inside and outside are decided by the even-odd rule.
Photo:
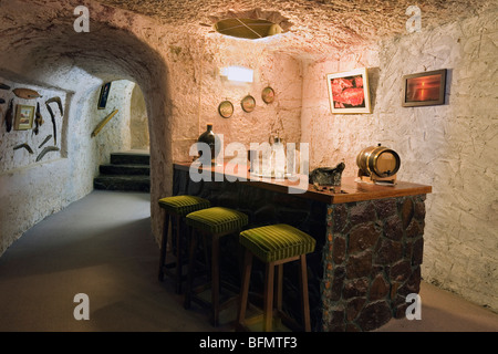
[[[240,290],[237,330],[249,330],[247,324],[261,320],[261,315],[246,320],[248,305],[249,280],[252,268],[252,257],[256,256],[266,263],[264,300],[263,300],[263,331],[270,332],[273,322],[273,282],[274,267],[277,270],[276,315],[291,321],[282,311],[282,278],[283,264],[300,261],[299,282],[301,289],[301,311],[303,330],[311,331],[310,305],[308,299],[308,274],[305,254],[314,251],[317,241],[305,232],[290,225],[279,223],[249,229],[240,232],[239,242],[246,248],[242,284]]]

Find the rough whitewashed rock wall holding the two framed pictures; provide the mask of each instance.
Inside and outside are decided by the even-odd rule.
[[[498,310],[496,82],[497,12],[425,29],[339,62],[304,66],[302,140],[311,164],[344,159],[383,145],[402,160],[398,178],[433,186],[427,195],[422,275],[443,289]],[[370,69],[372,114],[332,115],[325,74]],[[446,104],[402,107],[402,76],[448,69]]]

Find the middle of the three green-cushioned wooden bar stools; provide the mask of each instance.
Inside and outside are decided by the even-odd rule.
[[[238,235],[248,223],[249,218],[246,214],[222,207],[212,207],[199,211],[190,212],[186,216],[186,223],[195,231],[190,239],[190,252],[188,264],[187,290],[185,293],[184,308],[189,309],[191,300],[198,302],[203,306],[210,308],[210,322],[214,326],[218,325],[219,312],[225,309],[232,300],[229,299],[225,303],[220,303],[220,274],[219,274],[219,241],[227,235]],[[195,233],[195,235],[194,235]],[[197,249],[197,237],[203,236],[205,239],[211,239],[211,274],[210,282],[193,289],[194,284],[194,264],[195,252]],[[211,289],[211,301],[207,303],[199,294],[206,289]]]

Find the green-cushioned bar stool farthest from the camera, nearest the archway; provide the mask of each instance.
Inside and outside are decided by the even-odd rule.
[[[181,293],[181,282],[185,280],[183,274],[183,261],[181,261],[181,230],[185,228],[184,217],[196,210],[206,209],[210,207],[210,202],[207,199],[195,196],[174,196],[159,199],[159,207],[165,210],[164,216],[164,230],[163,239],[160,242],[160,256],[159,256],[159,281],[164,280],[164,274],[170,275],[175,279],[175,290],[177,293]],[[165,264],[167,253],[168,241],[168,228],[169,220],[172,220],[172,253],[175,256],[175,261]],[[173,240],[173,221],[176,226],[176,246]],[[175,268],[175,272],[170,269]]]

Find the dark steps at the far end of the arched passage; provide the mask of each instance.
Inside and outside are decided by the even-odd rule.
[[[151,154],[129,150],[111,154],[111,164],[98,167],[93,187],[105,190],[151,191]]]

